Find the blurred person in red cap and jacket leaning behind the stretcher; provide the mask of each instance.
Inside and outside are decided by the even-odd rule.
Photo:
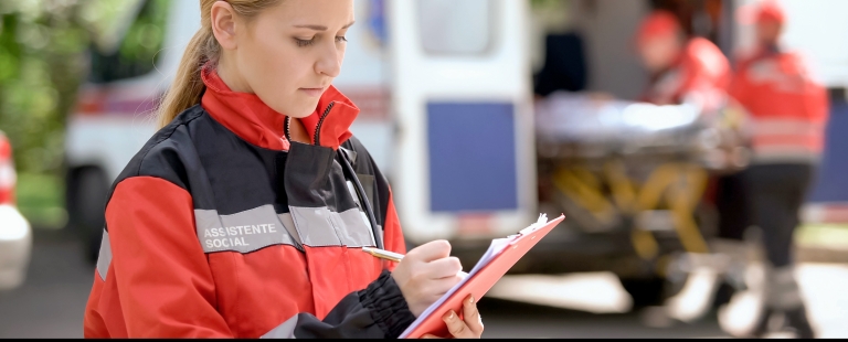
[[[731,77],[728,58],[707,39],[687,40],[672,13],[650,13],[638,29],[636,45],[650,73],[640,100],[656,105],[687,101],[707,109],[720,104]]]

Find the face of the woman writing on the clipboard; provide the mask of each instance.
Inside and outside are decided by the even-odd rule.
[[[233,22],[230,41],[215,32],[223,47],[221,77],[234,92],[255,93],[272,109],[301,118],[315,111],[341,71],[353,0],[282,0],[250,21],[235,15]]]

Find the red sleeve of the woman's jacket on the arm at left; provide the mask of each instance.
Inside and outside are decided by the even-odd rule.
[[[129,338],[233,335],[215,309],[214,281],[186,190],[158,178],[126,179],[108,203],[106,225]]]

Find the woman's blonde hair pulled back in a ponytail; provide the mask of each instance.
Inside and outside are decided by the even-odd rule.
[[[250,20],[263,10],[277,6],[282,0],[200,0],[201,28],[186,47],[173,83],[159,105],[156,114],[159,128],[168,126],[183,110],[200,104],[206,88],[200,73],[208,63],[216,64],[221,55],[221,45],[212,34],[211,18],[212,6],[218,1],[226,1],[236,14]]]

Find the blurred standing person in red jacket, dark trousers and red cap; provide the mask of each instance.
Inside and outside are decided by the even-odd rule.
[[[815,82],[803,58],[782,49],[786,21],[771,0],[753,13],[757,46],[738,61],[730,94],[750,113],[752,165],[742,173],[748,220],[759,227],[770,265],[765,304],[754,335],[768,330],[770,317],[785,314],[786,328],[813,338],[794,278],[793,233],[825,143],[826,89]],[[749,20],[751,20],[749,19]]]

